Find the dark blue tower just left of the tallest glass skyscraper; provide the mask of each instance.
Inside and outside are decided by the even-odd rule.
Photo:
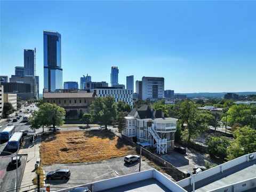
[[[24,75],[35,76],[35,50],[24,50]],[[16,74],[15,74],[16,75]]]

